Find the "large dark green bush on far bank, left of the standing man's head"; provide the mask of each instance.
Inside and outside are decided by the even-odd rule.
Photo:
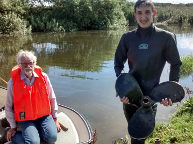
[[[33,31],[113,29],[126,24],[116,0],[55,1],[54,6],[31,8],[27,19]],[[52,21],[51,27],[47,21]]]

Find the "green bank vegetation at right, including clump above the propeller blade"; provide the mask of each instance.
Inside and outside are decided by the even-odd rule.
[[[181,77],[189,76],[193,72],[193,55],[182,57]],[[193,80],[193,75],[192,75]],[[163,144],[191,144],[193,143],[193,91],[184,87],[186,100],[173,114],[169,122],[156,123],[153,134],[146,144],[155,144],[160,140]],[[129,144],[129,137],[118,139],[114,144]]]

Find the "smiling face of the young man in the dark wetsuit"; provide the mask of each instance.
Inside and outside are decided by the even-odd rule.
[[[134,16],[141,28],[148,28],[153,22],[155,13],[155,11],[152,11],[152,7],[141,5],[136,8]]]

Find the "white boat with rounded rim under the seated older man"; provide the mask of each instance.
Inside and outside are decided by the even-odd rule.
[[[6,127],[9,126],[5,119],[5,97],[7,89],[0,86],[0,144],[5,143]],[[58,105],[58,121],[62,130],[58,133],[55,144],[94,144],[96,133],[93,132],[89,122],[73,108]],[[66,129],[67,128],[67,129]]]

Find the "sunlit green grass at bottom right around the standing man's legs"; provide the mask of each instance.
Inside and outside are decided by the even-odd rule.
[[[193,97],[178,108],[169,123],[156,123],[146,144],[155,144],[156,138],[162,144],[193,144]],[[119,139],[115,144],[129,144],[129,138]]]

